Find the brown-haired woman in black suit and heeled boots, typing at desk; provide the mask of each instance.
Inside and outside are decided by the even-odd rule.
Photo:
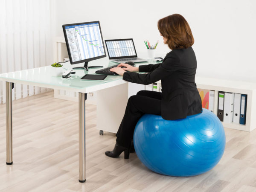
[[[163,63],[139,67],[122,63],[111,71],[123,76],[125,81],[138,84],[161,80],[162,93],[143,90],[128,99],[125,115],[116,134],[116,145],[113,151],[105,152],[108,157],[119,157],[124,151],[125,158],[129,158],[134,128],[145,113],[174,120],[202,112],[201,98],[195,84],[197,63],[191,47],[194,38],[189,24],[183,16],[174,14],[160,19],[157,26],[163,36],[163,43],[172,49]],[[138,74],[136,71],[148,73]]]

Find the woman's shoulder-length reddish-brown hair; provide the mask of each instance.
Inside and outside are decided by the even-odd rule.
[[[170,49],[185,49],[194,44],[194,38],[186,19],[179,14],[169,15],[157,22],[161,35],[167,39]]]

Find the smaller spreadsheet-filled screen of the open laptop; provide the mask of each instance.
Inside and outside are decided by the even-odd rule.
[[[110,59],[137,57],[132,39],[105,40]]]

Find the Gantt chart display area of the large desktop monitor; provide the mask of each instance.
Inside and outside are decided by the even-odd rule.
[[[65,26],[72,61],[105,55],[99,23]]]

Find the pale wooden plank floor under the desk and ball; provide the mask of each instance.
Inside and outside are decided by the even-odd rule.
[[[256,131],[225,129],[224,156],[211,171],[169,177],[136,154],[105,156],[114,134],[99,135],[96,106],[86,105],[86,182],[78,182],[78,103],[53,92],[13,102],[13,165],[6,165],[6,105],[0,105],[0,191],[256,191]]]

